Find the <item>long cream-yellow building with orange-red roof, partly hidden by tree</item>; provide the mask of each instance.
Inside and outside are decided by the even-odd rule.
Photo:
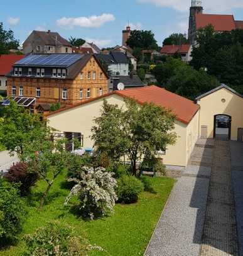
[[[139,104],[153,102],[176,114],[175,132],[177,141],[169,145],[161,156],[165,165],[185,167],[198,138],[199,106],[193,101],[166,91],[156,86],[148,86],[124,91],[115,91],[105,96],[90,99],[85,103],[60,109],[48,115],[49,125],[66,137],[70,134],[81,134],[83,147],[92,148],[90,139],[94,118],[100,115],[103,100],[109,104],[124,105],[124,97],[131,97]],[[68,135],[68,136],[67,136]],[[72,136],[71,136],[72,137]]]

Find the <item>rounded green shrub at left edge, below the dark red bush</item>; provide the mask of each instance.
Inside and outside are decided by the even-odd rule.
[[[0,179],[0,247],[16,240],[23,216],[24,204],[18,185]]]

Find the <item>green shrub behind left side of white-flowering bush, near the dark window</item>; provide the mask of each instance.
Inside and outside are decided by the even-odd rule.
[[[91,162],[92,157],[87,153],[82,156],[72,153],[68,158],[67,177],[78,178],[80,176],[80,172],[82,172],[82,167],[90,166]]]

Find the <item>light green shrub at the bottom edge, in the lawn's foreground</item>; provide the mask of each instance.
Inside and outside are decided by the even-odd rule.
[[[102,250],[99,247],[92,247],[84,237],[77,234],[77,231],[59,221],[38,228],[33,235],[24,237],[24,241],[24,256],[84,256],[90,250]]]

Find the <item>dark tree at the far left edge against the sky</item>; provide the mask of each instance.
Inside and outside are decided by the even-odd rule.
[[[0,55],[9,54],[10,49],[17,50],[19,41],[14,38],[13,30],[4,30],[3,23],[0,22]]]

